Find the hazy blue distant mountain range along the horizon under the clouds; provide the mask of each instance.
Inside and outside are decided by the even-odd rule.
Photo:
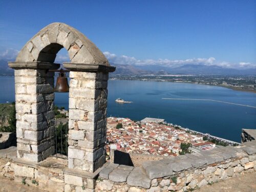
[[[120,65],[111,63],[116,67],[113,74],[119,75],[167,75],[167,74],[187,74],[187,75],[256,75],[256,69],[237,70],[231,68],[223,68],[220,66],[205,65],[183,65],[177,68],[168,68],[159,65],[133,66]],[[0,75],[13,75],[14,70],[8,67],[6,60],[0,60]]]

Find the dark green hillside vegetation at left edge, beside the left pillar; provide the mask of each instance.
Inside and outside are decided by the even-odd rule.
[[[15,102],[0,104],[0,132],[16,133]]]

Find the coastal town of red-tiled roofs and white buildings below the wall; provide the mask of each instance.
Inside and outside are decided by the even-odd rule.
[[[156,118],[145,118],[137,122],[130,118],[109,117],[106,142],[108,155],[112,150],[118,150],[125,153],[178,156],[216,147],[215,143],[201,134],[185,131],[178,125]]]

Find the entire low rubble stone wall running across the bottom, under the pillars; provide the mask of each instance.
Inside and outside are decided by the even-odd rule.
[[[1,151],[0,151],[1,152]],[[37,164],[0,158],[0,175],[48,191],[186,191],[256,171],[256,141],[142,163],[105,163],[93,174],[71,173],[67,160]]]

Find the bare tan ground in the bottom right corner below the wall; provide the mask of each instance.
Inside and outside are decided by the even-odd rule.
[[[256,191],[256,172],[245,174],[241,177],[230,178],[225,181],[206,185],[198,190],[198,192],[251,192]]]

